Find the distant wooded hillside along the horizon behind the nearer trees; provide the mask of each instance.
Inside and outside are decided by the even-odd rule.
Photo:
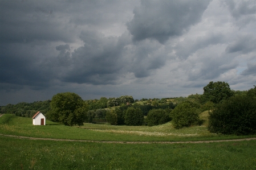
[[[245,95],[247,91],[234,91],[235,95]],[[188,97],[170,97],[170,98],[142,98],[142,99],[133,99],[132,96],[121,96],[117,98],[105,98],[101,97],[100,99],[89,99],[85,100],[84,103],[87,105],[90,112],[97,113],[102,109],[110,109],[111,107],[119,106],[121,110],[126,110],[129,106],[139,107],[144,115],[148,114],[149,110],[152,109],[174,109],[178,103],[184,101],[193,101],[198,103],[204,103],[202,101],[202,94],[191,94]],[[46,101],[35,101],[32,103],[21,102],[16,105],[7,104],[6,106],[0,106],[1,114],[15,114],[20,117],[32,117],[37,111],[42,112],[47,115],[47,112],[50,110],[51,100]],[[97,118],[97,115],[95,116]]]

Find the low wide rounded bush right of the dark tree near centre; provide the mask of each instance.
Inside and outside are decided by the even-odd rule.
[[[152,109],[148,112],[148,126],[161,125],[170,121],[170,115],[164,109]]]

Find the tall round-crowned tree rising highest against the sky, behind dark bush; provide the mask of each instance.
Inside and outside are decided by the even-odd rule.
[[[227,82],[211,81],[207,86],[204,87],[203,96],[207,101],[218,103],[223,99],[234,96],[234,92],[229,88],[229,84]]]

